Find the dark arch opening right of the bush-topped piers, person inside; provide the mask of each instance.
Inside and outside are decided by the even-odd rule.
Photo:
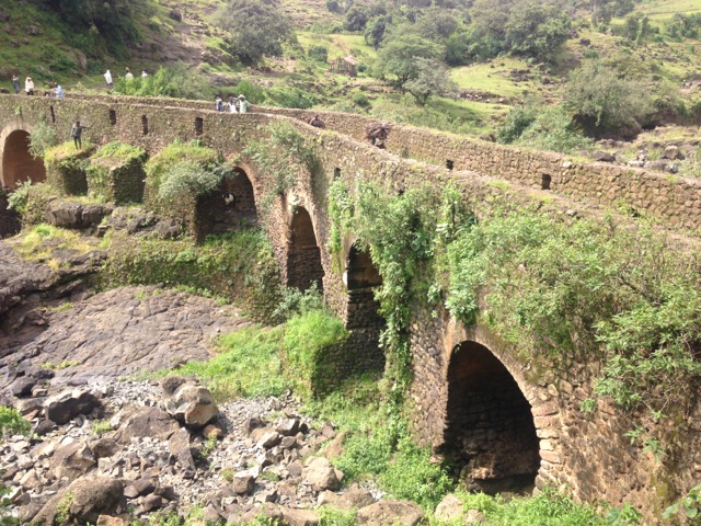
[[[198,237],[223,233],[257,225],[255,194],[249,175],[235,168],[216,192],[197,199]]]

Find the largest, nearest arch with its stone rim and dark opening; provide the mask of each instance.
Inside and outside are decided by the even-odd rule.
[[[444,342],[439,450],[455,461],[470,490],[529,492],[539,480],[554,480],[551,461],[560,461],[556,403],[547,389],[527,380],[529,366],[487,329],[451,324]]]

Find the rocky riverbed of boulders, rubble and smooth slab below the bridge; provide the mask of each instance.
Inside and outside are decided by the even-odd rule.
[[[0,403],[32,425],[2,436],[0,478],[22,524],[126,525],[196,506],[202,524],[315,525],[325,505],[358,510],[358,524],[423,521],[411,502],[345,484],[330,458],[346,434],[290,395],[217,404],[194,379],[125,379],[207,359],[218,334],[250,322],[181,291],[97,293],[101,261],[55,271],[0,241]]]

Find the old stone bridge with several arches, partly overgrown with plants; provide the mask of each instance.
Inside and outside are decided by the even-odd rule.
[[[0,182],[46,178],[43,163],[28,153],[28,134],[39,121],[68,139],[76,119],[91,126],[87,138],[122,140],[154,153],[174,139],[200,139],[229,159],[241,159],[250,138],[286,121],[323,150],[323,170],[300,172],[295,186],[267,213],[265,228],[289,285],[319,283],[329,305],[353,330],[358,359],[381,367],[377,335],[382,320],[372,299],[381,276],[353,235],[343,240],[340,265],[326,247],[331,221],[327,188],[333,178],[391,182],[398,192],[426,181],[456,181],[463,195],[483,199],[504,187],[524,202],[587,215],[605,207],[629,207],[664,218],[670,226],[701,226],[701,184],[617,165],[585,163],[566,157],[506,148],[463,137],[393,125],[387,150],[363,140],[372,119],[321,113],[326,128],[306,123],[310,112],[255,107],[245,115],[211,111],[192,101],[74,96],[53,99],[0,95]],[[239,210],[258,214],[256,204],[271,184],[241,159],[244,178],[228,188]],[[223,203],[210,203],[209,208]],[[214,208],[212,208],[214,209]],[[216,222],[212,219],[214,222]],[[210,221],[210,222],[212,222]],[[586,366],[533,378],[496,334],[480,324],[464,327],[440,310],[416,306],[411,322],[414,379],[411,400],[421,439],[437,451],[472,458],[475,487],[485,491],[554,485],[587,501],[630,502],[652,517],[670,495],[660,490],[668,473],[622,436],[624,416],[606,404],[588,419],[582,400],[591,396]],[[365,356],[365,358],[363,358]],[[699,464],[689,455],[675,485],[689,488]],[[694,464],[696,462],[696,464]]]

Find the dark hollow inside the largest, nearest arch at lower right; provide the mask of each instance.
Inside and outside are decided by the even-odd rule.
[[[540,454],[531,407],[504,364],[475,342],[450,358],[444,453],[468,490],[533,489]]]

